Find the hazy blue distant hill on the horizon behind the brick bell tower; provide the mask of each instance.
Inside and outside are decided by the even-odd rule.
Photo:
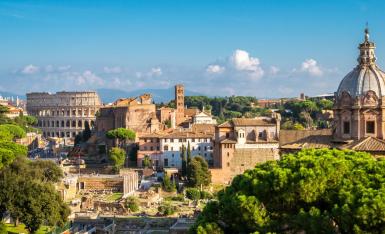
[[[168,89],[137,89],[124,91],[119,89],[98,89],[96,90],[104,103],[114,102],[118,98],[137,97],[144,93],[150,93],[156,103],[169,102],[174,99],[174,87]],[[186,96],[203,95],[198,92],[185,90]]]

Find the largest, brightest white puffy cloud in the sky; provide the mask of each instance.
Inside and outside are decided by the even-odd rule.
[[[238,71],[246,72],[252,79],[259,79],[264,75],[258,58],[251,57],[247,51],[235,50],[230,56],[230,64]]]

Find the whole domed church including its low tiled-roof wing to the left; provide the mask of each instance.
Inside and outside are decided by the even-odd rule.
[[[284,131],[282,153],[307,148],[337,148],[385,156],[385,73],[376,64],[375,44],[365,29],[359,44],[357,66],[341,81],[335,93],[334,125],[320,130]]]

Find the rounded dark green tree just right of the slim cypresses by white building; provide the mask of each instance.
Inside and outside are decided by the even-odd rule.
[[[209,166],[201,156],[196,156],[191,160],[187,172],[188,183],[192,187],[207,186],[211,183]]]

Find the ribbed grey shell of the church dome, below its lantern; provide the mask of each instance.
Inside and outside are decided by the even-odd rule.
[[[352,98],[363,96],[372,90],[377,97],[385,96],[385,73],[376,65],[357,66],[341,81],[337,95],[340,97],[346,91]]]

